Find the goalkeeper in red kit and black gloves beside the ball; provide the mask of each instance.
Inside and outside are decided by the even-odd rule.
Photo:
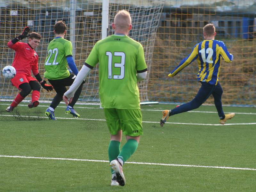
[[[20,92],[12,101],[12,104],[6,108],[7,112],[12,112],[28,94],[32,91],[31,103],[28,104],[28,108],[37,107],[40,98],[41,86],[47,91],[52,91],[52,85],[45,84],[39,72],[38,72],[38,55],[36,54],[36,47],[40,43],[41,36],[32,32],[30,35],[29,27],[25,27],[23,32],[8,42],[8,47],[15,51],[15,57],[12,62],[12,67],[16,69],[16,75],[11,79],[12,85],[17,87]],[[18,42],[23,38],[28,38],[28,43]],[[31,76],[31,70],[34,77]],[[39,82],[39,83],[38,83]],[[41,84],[41,86],[40,86]]]

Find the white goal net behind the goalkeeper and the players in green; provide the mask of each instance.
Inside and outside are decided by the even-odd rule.
[[[1,69],[6,65],[12,65],[15,52],[7,47],[7,43],[18,36],[25,26],[31,28],[30,32],[35,31],[42,36],[40,45],[36,49],[39,56],[38,65],[41,76],[44,73],[47,45],[54,38],[53,26],[56,21],[63,20],[67,24],[68,31],[65,38],[73,44],[73,57],[78,70],[82,68],[93,45],[102,38],[102,20],[106,15],[102,12],[101,0],[91,0],[86,1],[86,3],[78,0],[4,2],[4,7],[0,8]],[[108,3],[107,36],[114,33],[111,23],[114,22],[116,12],[123,9],[129,11],[133,26],[129,36],[140,42],[144,47],[148,74],[151,70],[153,46],[162,8],[163,3],[160,0],[112,0]],[[28,39],[22,40],[22,42],[27,41]],[[86,77],[86,83],[78,101],[99,102],[98,72],[99,66],[96,65]],[[148,101],[148,77],[149,75],[147,80],[138,84],[142,102]],[[0,99],[12,100],[18,92],[12,86],[11,81],[4,79],[1,74]],[[40,100],[51,101],[55,94],[54,91],[46,92],[41,89]],[[25,100],[30,100],[30,96],[26,97]]]

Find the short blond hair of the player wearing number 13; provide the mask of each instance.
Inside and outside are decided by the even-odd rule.
[[[117,12],[114,24],[117,28],[126,29],[129,28],[129,26],[132,23],[131,15],[128,11],[121,10]]]

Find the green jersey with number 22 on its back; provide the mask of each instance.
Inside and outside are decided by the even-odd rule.
[[[62,37],[55,38],[49,43],[47,52],[44,77],[50,80],[68,77],[70,73],[66,57],[72,55],[71,42]]]

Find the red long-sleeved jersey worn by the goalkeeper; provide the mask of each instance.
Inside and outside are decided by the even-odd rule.
[[[31,76],[32,70],[34,75],[38,74],[38,55],[29,44],[22,42],[13,44],[12,41],[9,41],[7,45],[15,51],[12,66],[16,69],[17,73]]]

